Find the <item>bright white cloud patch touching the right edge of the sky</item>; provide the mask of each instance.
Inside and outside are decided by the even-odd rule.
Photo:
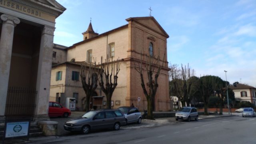
[[[236,36],[247,35],[247,36],[256,36],[256,26],[252,24],[247,24],[241,26],[237,32],[234,33]]]

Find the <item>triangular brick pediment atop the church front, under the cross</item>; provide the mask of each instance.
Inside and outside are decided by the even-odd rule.
[[[160,26],[160,24],[152,16],[128,18],[126,20],[127,21],[135,20],[136,22],[138,22],[142,25],[148,26],[149,28],[152,28],[152,29],[156,30],[157,32],[164,34],[167,38],[169,37],[168,34],[165,32],[165,30],[162,28],[162,26]]]

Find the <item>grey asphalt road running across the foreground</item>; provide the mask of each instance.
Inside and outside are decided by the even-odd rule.
[[[256,118],[236,115],[151,128],[92,132],[37,144],[256,144],[255,128]]]

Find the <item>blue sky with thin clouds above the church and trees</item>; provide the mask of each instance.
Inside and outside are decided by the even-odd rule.
[[[170,36],[169,64],[189,64],[195,76],[219,76],[256,87],[256,0],[57,0],[67,10],[56,19],[54,43],[83,40],[92,18],[102,34],[151,15]],[[226,70],[226,76],[225,72]]]

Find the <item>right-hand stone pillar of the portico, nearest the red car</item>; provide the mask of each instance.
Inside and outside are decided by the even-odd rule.
[[[50,78],[52,70],[52,47],[53,47],[53,27],[44,26],[40,43],[40,54],[38,60],[38,72],[36,81],[36,108],[34,111],[34,121],[50,120],[48,117]]]

